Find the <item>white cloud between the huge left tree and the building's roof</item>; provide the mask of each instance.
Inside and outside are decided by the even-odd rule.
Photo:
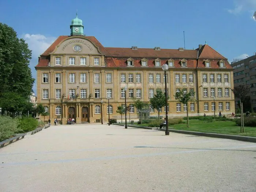
[[[25,34],[22,35],[26,43],[29,45],[29,49],[32,50],[32,59],[30,60],[30,68],[32,76],[37,79],[37,72],[35,71],[35,65],[38,64],[38,57],[44,53],[45,50],[55,41],[56,37],[45,37],[41,34]],[[36,81],[33,86],[33,90],[36,93]]]

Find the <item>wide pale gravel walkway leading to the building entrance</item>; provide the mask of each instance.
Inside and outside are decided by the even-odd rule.
[[[0,149],[0,191],[256,191],[256,144],[52,125]]]

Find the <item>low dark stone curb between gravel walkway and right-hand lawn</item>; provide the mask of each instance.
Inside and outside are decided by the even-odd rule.
[[[123,124],[117,124],[117,123],[113,123],[113,124],[124,126]],[[136,125],[127,125],[127,126],[128,127],[143,128],[143,129],[153,129],[152,127],[141,127],[141,126],[136,126]],[[165,129],[161,129],[161,131],[165,131]],[[226,134],[219,134],[219,133],[205,133],[205,132],[196,132],[196,131],[184,131],[184,130],[177,130],[177,129],[169,129],[169,131],[170,132],[175,132],[175,133],[188,134],[188,135],[198,135],[198,136],[205,136],[205,137],[212,137],[212,138],[222,138],[222,139],[233,139],[233,140],[256,143],[256,137],[250,137],[250,136],[226,135]]]

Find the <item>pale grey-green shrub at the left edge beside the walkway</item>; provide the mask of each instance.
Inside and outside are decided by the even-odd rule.
[[[0,116],[0,142],[11,138],[19,132],[18,120],[8,116]]]

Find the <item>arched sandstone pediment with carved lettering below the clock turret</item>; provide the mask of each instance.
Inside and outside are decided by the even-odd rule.
[[[76,48],[75,48],[76,46]],[[77,49],[79,48],[79,49]],[[60,42],[50,54],[102,54],[98,47],[85,37],[70,37]]]

